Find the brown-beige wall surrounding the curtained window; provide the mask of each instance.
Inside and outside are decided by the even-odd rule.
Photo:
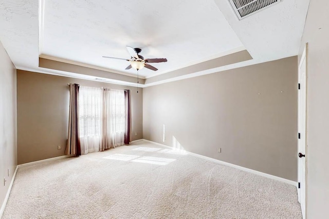
[[[142,138],[142,89],[137,93],[135,87],[17,70],[19,164],[64,155],[68,128],[68,83],[132,90],[133,140]],[[61,145],[62,149],[58,150],[57,145]]]

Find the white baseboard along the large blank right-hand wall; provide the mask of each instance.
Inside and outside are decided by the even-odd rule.
[[[153,144],[162,146],[162,147],[166,147],[166,148],[170,148],[170,149],[175,149],[175,148],[173,148],[171,146],[163,145],[163,144],[160,144],[160,143],[157,143],[157,142],[152,142],[152,141],[145,140],[145,139],[143,139],[143,141],[150,142],[150,143],[153,143]],[[217,164],[225,165],[225,166],[228,166],[228,167],[233,167],[233,168],[236,168],[236,169],[245,171],[245,172],[250,172],[250,173],[253,173],[253,174],[256,174],[256,175],[264,176],[264,177],[270,178],[272,180],[277,180],[277,181],[280,181],[280,182],[283,182],[283,183],[287,183],[287,184],[296,186],[298,188],[298,183],[297,182],[291,181],[291,180],[287,180],[286,178],[281,178],[279,176],[270,175],[270,174],[263,173],[263,172],[260,172],[260,171],[257,171],[257,170],[252,170],[252,169],[249,169],[249,168],[246,168],[246,167],[241,167],[241,166],[238,166],[238,165],[235,165],[235,164],[231,164],[231,163],[227,163],[227,162],[224,162],[224,161],[216,160],[214,158],[211,158],[211,157],[208,157],[208,156],[203,156],[203,155],[196,154],[196,153],[192,153],[192,152],[189,152],[189,151],[185,151],[185,152],[188,153],[188,154],[191,154],[193,156],[197,156],[197,157],[206,159],[208,161],[212,161],[212,162],[217,163]]]

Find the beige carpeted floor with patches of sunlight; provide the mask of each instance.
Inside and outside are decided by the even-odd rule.
[[[3,218],[302,218],[294,186],[136,142],[19,168]]]

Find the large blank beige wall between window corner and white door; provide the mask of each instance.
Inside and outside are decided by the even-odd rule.
[[[297,181],[297,56],[144,88],[143,138]]]

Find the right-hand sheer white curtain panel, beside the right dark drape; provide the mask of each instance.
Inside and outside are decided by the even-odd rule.
[[[123,90],[111,89],[109,95],[109,106],[109,118],[111,119],[111,146],[117,147],[124,144],[125,107]]]

